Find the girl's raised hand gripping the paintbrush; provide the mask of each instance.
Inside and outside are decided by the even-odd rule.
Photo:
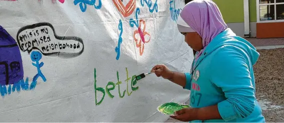
[[[171,79],[173,77],[173,72],[163,64],[154,66],[151,72],[155,73],[157,77],[163,77],[164,79]]]

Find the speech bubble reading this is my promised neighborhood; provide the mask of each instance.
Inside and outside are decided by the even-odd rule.
[[[41,22],[19,29],[17,41],[22,51],[40,50],[46,56],[77,57],[84,51],[82,38],[58,36],[51,23]]]

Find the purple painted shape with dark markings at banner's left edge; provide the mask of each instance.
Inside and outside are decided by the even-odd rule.
[[[0,85],[11,85],[24,78],[20,49],[15,39],[0,25]]]

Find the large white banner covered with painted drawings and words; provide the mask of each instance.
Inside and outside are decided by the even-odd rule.
[[[189,91],[156,64],[189,72],[176,27],[184,0],[0,0],[0,122],[164,122]]]

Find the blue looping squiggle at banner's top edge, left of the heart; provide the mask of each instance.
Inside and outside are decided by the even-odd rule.
[[[77,5],[80,2],[79,6],[82,12],[85,12],[87,10],[87,4],[94,5],[96,9],[100,9],[102,7],[102,1],[98,0],[98,5],[96,5],[96,1],[97,0],[74,0],[74,5]]]

